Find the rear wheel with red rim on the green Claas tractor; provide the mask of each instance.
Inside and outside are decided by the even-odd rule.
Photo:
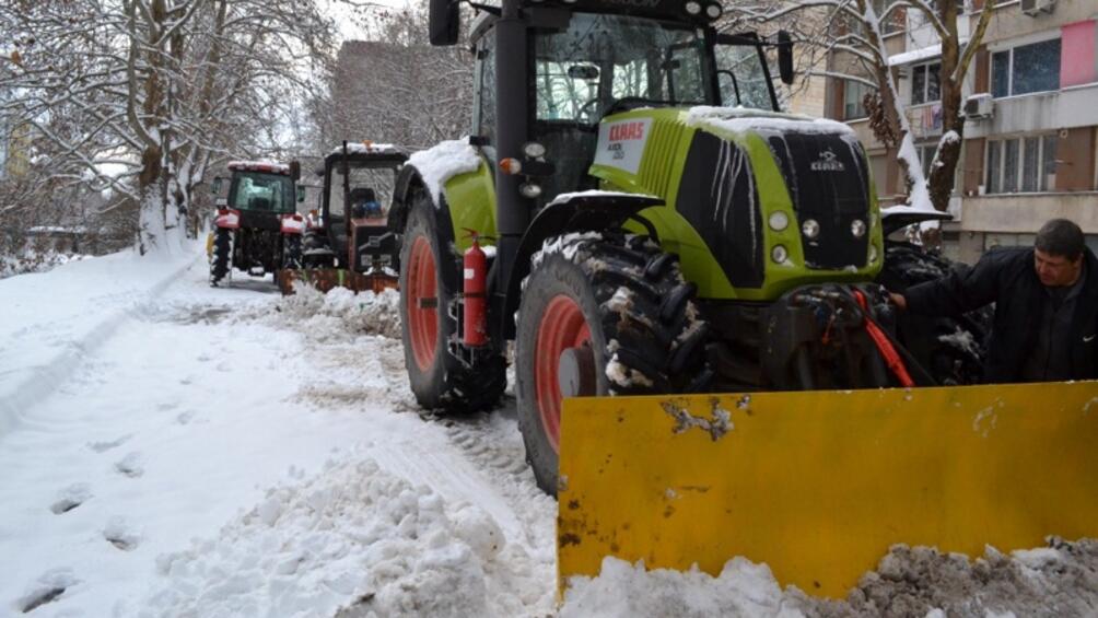
[[[401,247],[401,337],[408,382],[416,401],[428,409],[491,409],[507,385],[507,363],[493,356],[467,366],[448,351],[458,328],[449,307],[460,280],[453,256],[439,246],[437,226],[430,199],[418,195]],[[444,268],[452,269],[452,277],[445,277]]]

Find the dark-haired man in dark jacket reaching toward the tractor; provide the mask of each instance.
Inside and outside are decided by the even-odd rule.
[[[922,315],[995,303],[985,382],[1098,378],[1098,258],[1071,221],[1044,224],[1032,248],[989,251],[965,273],[890,296]]]

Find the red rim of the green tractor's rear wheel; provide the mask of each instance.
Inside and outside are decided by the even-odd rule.
[[[419,371],[435,362],[438,348],[438,282],[430,243],[418,236],[412,244],[408,263],[408,338]]]

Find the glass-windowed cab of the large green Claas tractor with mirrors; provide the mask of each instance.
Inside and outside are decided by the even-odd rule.
[[[587,171],[598,161],[596,154],[603,155],[597,153],[601,139],[615,142],[617,149],[605,154],[612,159],[639,160],[640,153],[629,145],[643,145],[643,126],[616,127],[603,122],[607,116],[697,105],[780,110],[770,57],[777,56],[782,77],[792,81],[792,52],[784,33],[776,42],[754,33],[718,34],[712,27],[721,14],[716,2],[650,4],[656,8],[578,1],[524,9],[529,54],[522,67],[526,88],[516,95],[527,99],[526,141],[553,155],[552,171],[522,190],[527,198],[537,193],[537,207],[559,193],[597,188]],[[495,30],[501,20],[493,12],[482,13],[470,36],[478,58],[473,135],[492,160],[498,156],[497,123],[506,121],[501,116],[523,109],[502,102],[508,94],[496,88]],[[612,131],[614,136],[602,135]],[[629,132],[632,139],[617,139]]]

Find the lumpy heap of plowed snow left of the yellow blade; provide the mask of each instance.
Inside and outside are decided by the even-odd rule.
[[[370,458],[267,492],[217,538],[160,555],[142,616],[517,616],[524,582],[500,526]]]

